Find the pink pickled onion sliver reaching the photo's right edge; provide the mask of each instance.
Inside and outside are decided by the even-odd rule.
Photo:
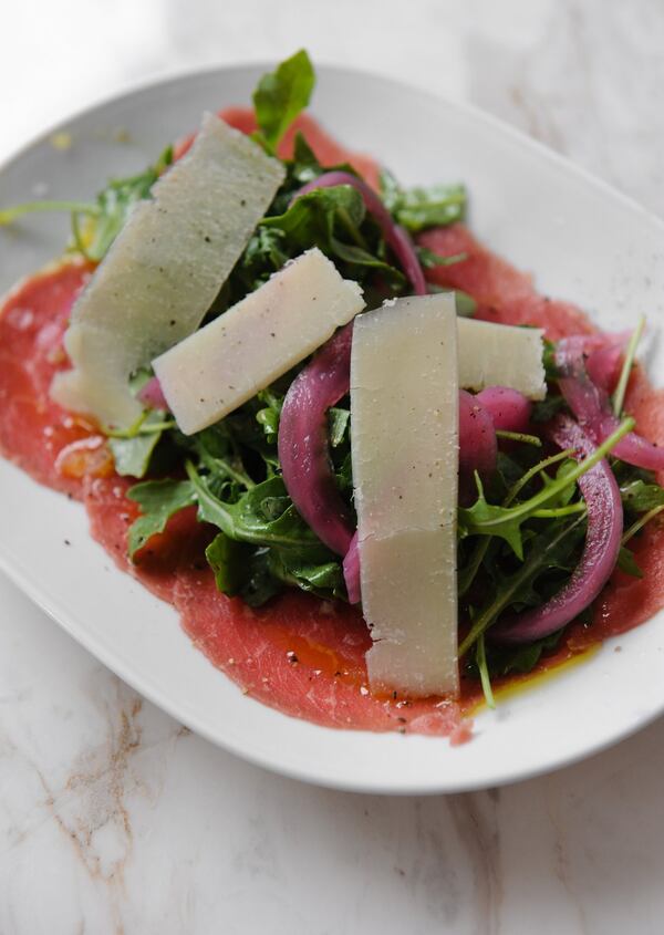
[[[558,384],[567,404],[593,441],[601,444],[620,424],[611,412],[608,393],[588,376],[582,352],[575,347],[570,350],[564,341],[558,346],[556,363],[562,374]],[[664,470],[664,448],[658,448],[635,432],[621,438],[611,454],[635,467]]]

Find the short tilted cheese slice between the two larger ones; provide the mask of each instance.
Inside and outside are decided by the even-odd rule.
[[[364,308],[362,289],[314,247],[153,361],[177,424],[191,435],[241,406]]]

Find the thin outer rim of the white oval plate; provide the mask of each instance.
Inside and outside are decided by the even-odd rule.
[[[145,84],[139,85],[138,87],[123,92],[120,95],[112,95],[105,101],[92,105],[85,108],[82,108],[80,112],[68,116],[65,120],[60,121],[54,127],[45,131],[44,133],[40,134],[35,137],[32,142],[25,144],[18,153],[11,155],[2,166],[0,166],[0,173],[3,172],[9,165],[13,164],[17,160],[20,160],[23,155],[30,152],[35,146],[43,144],[49,137],[58,132],[59,128],[66,127],[66,125],[75,120],[85,118],[89,115],[93,115],[97,111],[102,110],[106,105],[113,103],[120,103],[123,101],[128,101],[134,97],[136,94],[141,93],[142,91],[149,91],[156,89],[167,89],[172,86],[176,86],[180,84],[183,81],[187,80],[205,80],[211,79],[212,76],[219,75],[222,76],[227,73],[238,73],[243,72],[246,74],[250,73],[258,73],[261,69],[266,67],[262,63],[250,63],[247,65],[238,65],[238,66],[227,66],[222,69],[205,69],[196,72],[188,72],[183,75],[178,75],[173,79],[168,79],[166,81],[151,81]],[[464,103],[455,102],[438,97],[430,92],[422,90],[417,86],[408,85],[403,82],[394,81],[393,79],[384,75],[376,75],[371,72],[362,72],[361,70],[350,70],[350,69],[341,69],[336,66],[329,66],[325,65],[320,69],[321,73],[326,74],[355,74],[361,79],[363,75],[371,75],[372,79],[377,80],[380,82],[385,83],[386,85],[392,85],[393,87],[400,89],[408,89],[413,93],[424,96],[428,98],[432,104],[440,105],[444,104],[445,106],[454,108],[457,113],[463,115],[465,118],[469,118],[473,121],[479,121],[485,125],[491,127],[496,133],[500,133],[505,138],[509,138],[515,145],[519,147],[526,147],[536,152],[540,158],[546,158],[548,162],[552,164],[557,164],[560,166],[562,170],[566,173],[571,173],[582,179],[585,184],[591,185],[596,190],[601,191],[602,194],[610,196],[611,198],[620,201],[624,207],[629,208],[632,211],[636,211],[644,217],[650,224],[656,226],[660,231],[664,232],[664,222],[631,199],[629,196],[618,191],[608,183],[596,178],[591,173],[588,173],[585,169],[580,168],[579,166],[574,165],[573,163],[569,162],[566,157],[560,156],[559,154],[550,150],[548,147],[543,146],[542,144],[538,143],[537,141],[531,139],[530,137],[521,134],[519,131],[513,129],[512,127],[504,124],[501,121],[486,114],[485,112],[474,107],[471,105],[467,105]],[[81,632],[77,628],[73,628],[68,626],[66,624],[66,615],[61,612],[61,610],[56,606],[56,602],[53,602],[48,594],[43,594],[40,592],[39,588],[35,588],[32,582],[29,581],[24,575],[18,572],[15,565],[12,565],[9,561],[6,561],[2,555],[0,554],[0,567],[4,571],[4,573],[10,578],[10,580],[14,581],[14,583],[30,596],[30,599],[38,604],[50,617],[52,617],[65,632],[72,635],[81,645],[83,645],[86,650],[92,652],[101,662],[104,663],[108,668],[115,672],[121,678],[127,682],[132,687],[138,690],[141,694],[145,695],[152,702],[154,702],[158,707],[166,710],[170,716],[187,724],[193,730],[195,730],[200,736],[205,737],[206,739],[210,740],[215,745],[228,750],[229,752],[240,756],[241,758],[261,767],[264,769],[269,769],[271,771],[278,772],[282,776],[289,778],[297,778],[307,782],[311,782],[318,786],[322,786],[324,788],[331,789],[340,789],[344,791],[353,791],[353,792],[362,792],[362,793],[384,793],[384,794],[439,794],[439,793],[454,793],[460,791],[470,791],[481,788],[487,788],[490,786],[496,785],[508,785],[508,783],[516,783],[520,781],[525,781],[527,779],[540,776],[544,772],[550,772],[553,770],[562,769],[567,766],[570,766],[574,762],[578,762],[584,759],[588,756],[601,752],[602,750],[613,746],[615,742],[624,739],[625,737],[631,736],[632,734],[640,730],[642,727],[645,727],[647,724],[651,724],[655,720],[660,714],[660,710],[652,710],[649,715],[641,720],[634,720],[633,724],[627,725],[624,729],[619,730],[618,733],[613,733],[610,736],[601,737],[594,745],[590,745],[584,747],[583,749],[578,749],[570,752],[569,757],[558,757],[551,762],[542,762],[537,768],[532,768],[530,770],[523,770],[519,776],[515,777],[513,770],[497,770],[491,776],[483,776],[483,779],[477,783],[463,781],[458,783],[440,783],[439,780],[432,779],[430,782],[423,783],[423,785],[413,785],[413,783],[403,783],[398,788],[395,788],[394,785],[390,782],[385,782],[384,786],[377,783],[375,780],[366,781],[366,782],[357,782],[357,781],[331,781],[329,779],[321,778],[315,771],[308,771],[307,769],[302,769],[295,766],[288,766],[282,762],[276,762],[270,760],[269,758],[261,758],[260,756],[251,755],[247,752],[246,749],[234,745],[229,741],[221,740],[218,736],[210,734],[210,731],[200,724],[197,724],[196,718],[191,717],[183,717],[181,710],[177,709],[177,705],[173,705],[168,697],[165,696],[162,692],[155,689],[148,683],[141,683],[141,679],[137,678],[131,671],[127,672],[125,668],[124,663],[117,658],[113,657],[113,654],[106,652],[105,648],[95,646],[95,641],[91,640],[85,632]],[[74,630],[76,632],[74,632]],[[321,730],[328,730],[329,728],[319,728]],[[428,742],[437,742],[436,740],[430,740]],[[447,741],[445,741],[447,742]]]

